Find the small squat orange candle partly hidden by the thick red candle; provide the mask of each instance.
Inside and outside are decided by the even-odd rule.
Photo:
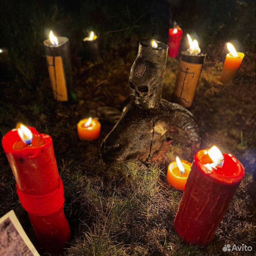
[[[191,163],[185,160],[180,160],[176,157],[176,162],[171,162],[167,170],[168,183],[179,190],[184,190],[187,177],[190,172]]]

